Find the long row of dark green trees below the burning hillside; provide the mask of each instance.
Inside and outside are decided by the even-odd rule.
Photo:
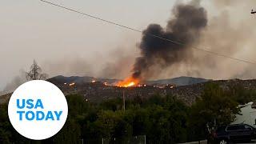
[[[230,90],[210,83],[193,106],[173,96],[159,94],[143,100],[114,98],[101,103],[86,102],[81,95],[68,95],[69,116],[54,137],[44,141],[23,138],[10,125],[7,106],[0,106],[0,143],[129,143],[146,135],[146,143],[177,143],[205,139],[214,126],[228,124],[239,113],[238,104],[254,99],[254,90],[235,86]]]

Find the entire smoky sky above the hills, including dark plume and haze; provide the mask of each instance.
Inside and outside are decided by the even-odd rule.
[[[70,6],[72,2],[64,5]],[[148,7],[144,6],[145,2]],[[144,30],[144,34],[182,42],[184,46],[81,18],[38,2],[32,2],[36,4],[31,6],[37,9],[27,8],[30,6],[27,3],[23,4],[24,9],[19,7],[22,3],[9,5],[17,5],[14,10],[22,10],[22,15],[12,14],[14,10],[11,8],[0,6],[0,15],[9,14],[8,17],[1,15],[6,20],[0,27],[0,84],[5,91],[13,90],[23,82],[22,74],[14,75],[19,69],[27,71],[34,58],[50,77],[59,74],[98,78],[126,78],[134,74],[134,77],[145,79],[256,77],[254,65],[192,49],[196,46],[256,62],[256,15],[250,14],[251,9],[256,9],[254,0],[136,1],[137,7],[129,2],[115,1],[120,6],[106,2],[110,9],[97,9],[103,10],[98,11],[102,18]],[[89,10],[94,14],[95,6],[98,6],[97,2],[82,11]],[[124,8],[117,10],[116,7]],[[37,10],[38,13],[32,13]],[[6,59],[10,60],[6,62]]]

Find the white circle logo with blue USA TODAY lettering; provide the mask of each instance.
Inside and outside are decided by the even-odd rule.
[[[34,80],[19,86],[10,97],[8,115],[14,129],[26,138],[50,138],[66,122],[66,98],[50,82]]]

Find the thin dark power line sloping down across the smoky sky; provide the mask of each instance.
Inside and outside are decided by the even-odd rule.
[[[60,6],[60,5],[58,5],[58,4],[56,4],[56,3],[53,3],[53,2],[48,2],[48,1],[45,1],[45,0],[40,0],[40,1],[41,1],[41,2],[45,2],[45,3],[48,3],[48,4],[50,4],[51,6],[57,6],[57,7],[59,7],[59,8],[65,9],[65,10],[70,10],[70,11],[72,11],[72,12],[74,12],[74,13],[82,14],[82,15],[85,15],[85,16],[90,17],[90,18],[98,19],[98,20],[100,20],[100,21],[102,21],[102,22],[110,23],[110,24],[115,25],[115,26],[120,26],[120,27],[122,27],[122,28],[125,28],[125,29],[128,29],[128,30],[134,30],[134,31],[136,31],[136,32],[138,32],[138,33],[144,34],[142,30],[137,30],[137,29],[131,28],[131,27],[129,27],[129,26],[124,26],[124,25],[121,25],[121,24],[119,24],[119,23],[117,23],[117,22],[112,22],[112,21],[109,21],[109,20],[106,20],[106,19],[103,19],[103,18],[96,17],[96,16],[91,15],[91,14],[86,14],[86,13],[83,13],[83,12],[78,11],[78,10],[71,9],[71,8],[69,8],[69,7],[66,7],[66,6]],[[182,43],[182,42],[177,42],[177,41],[171,40],[171,39],[169,39],[169,38],[162,38],[162,37],[160,37],[160,36],[158,36],[158,35],[155,35],[155,34],[147,34],[147,35],[150,35],[150,36],[155,37],[155,38],[160,38],[160,39],[162,39],[162,40],[165,40],[165,41],[168,41],[168,42],[172,42],[172,43],[177,44],[177,45],[186,46],[186,44],[184,44],[184,43]],[[193,48],[194,50],[200,50],[200,51],[206,52],[206,53],[208,53],[208,54],[214,54],[214,55],[217,55],[217,56],[219,56],[219,57],[230,58],[230,59],[233,59],[233,60],[235,60],[235,61],[245,62],[245,63],[250,63],[250,64],[256,65],[255,62],[250,62],[250,61],[246,61],[246,60],[244,60],[244,59],[230,57],[230,56],[225,55],[225,54],[218,54],[218,53],[216,53],[216,52],[214,52],[214,51],[210,51],[210,50],[206,50],[206,49],[201,49],[201,48],[198,48],[198,47],[195,47],[195,46],[191,46],[191,48]]]

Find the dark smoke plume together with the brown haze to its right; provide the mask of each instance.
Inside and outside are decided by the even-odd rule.
[[[169,39],[182,42],[185,45],[177,46],[171,42],[162,42],[161,39],[152,38],[150,35],[143,35],[142,42],[138,46],[142,56],[138,57],[134,64],[134,77],[139,75],[142,79],[155,79],[186,75],[213,79],[255,78],[256,69],[254,65],[207,54],[200,50],[192,50],[191,46],[255,62],[255,18],[250,15],[250,6],[255,6],[256,2],[212,1],[209,4],[210,6],[221,8],[218,9],[216,14],[209,14],[206,12],[207,6],[202,8],[199,4],[199,1],[192,1],[188,5],[177,4],[172,10],[174,18],[167,22],[166,28],[157,24],[148,26],[144,33],[148,32],[163,38],[168,38],[169,34],[175,34],[175,30],[177,30],[175,36],[171,35],[172,37],[169,36]],[[183,10],[188,12],[188,17],[197,14],[199,16],[184,18],[187,21],[178,22],[178,12],[179,10],[182,11],[182,7],[186,7]],[[195,11],[198,13],[194,14],[191,8],[196,9]],[[244,12],[242,9],[248,11]],[[233,14],[236,17],[233,17]],[[180,18],[182,19],[182,17]],[[188,22],[192,19],[201,24],[197,27],[199,29],[192,30],[195,33],[190,33],[191,27],[193,29],[193,26],[197,26],[197,23]],[[177,26],[170,25],[171,22],[177,22]],[[186,28],[187,25],[182,22],[189,25],[188,29]],[[179,38],[179,35],[182,35],[183,39]],[[176,49],[173,50],[172,48]]]

